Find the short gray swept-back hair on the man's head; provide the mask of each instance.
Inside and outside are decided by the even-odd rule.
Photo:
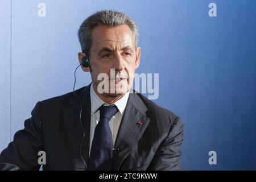
[[[104,10],[98,11],[93,15],[90,15],[84,22],[82,22],[79,31],[79,42],[81,44],[82,52],[85,52],[89,57],[90,47],[92,46],[92,31],[93,28],[102,25],[108,27],[121,26],[122,24],[126,24],[131,32],[133,32],[135,46],[137,47],[139,32],[138,26],[127,14],[112,11],[112,10]]]

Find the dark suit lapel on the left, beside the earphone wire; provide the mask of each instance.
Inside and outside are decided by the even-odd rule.
[[[83,143],[81,154],[85,163],[88,164],[90,142],[90,85],[77,90],[76,95],[82,104],[81,122],[85,134],[83,142],[83,132],[80,124],[81,107],[75,96],[69,98],[69,106],[63,109],[63,120],[73,166],[75,168],[85,168],[84,163],[81,161],[80,147],[81,143]]]

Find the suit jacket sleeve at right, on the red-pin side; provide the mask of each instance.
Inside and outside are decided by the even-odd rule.
[[[181,143],[183,142],[183,123],[179,117],[172,123],[167,138],[160,144],[156,150],[147,170],[180,170]]]

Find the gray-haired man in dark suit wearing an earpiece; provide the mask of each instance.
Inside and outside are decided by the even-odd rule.
[[[2,151],[0,168],[38,170],[44,151],[44,170],[180,169],[181,119],[131,89],[141,57],[136,23],[126,14],[100,11],[78,35],[79,61],[92,83],[38,102]],[[105,82],[98,79],[102,74]]]

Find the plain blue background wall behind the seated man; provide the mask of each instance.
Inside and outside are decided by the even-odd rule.
[[[39,3],[46,17],[38,16]],[[209,3],[217,17],[208,15]],[[0,151],[36,102],[71,92],[77,30],[98,10],[139,26],[138,73],[159,73],[156,104],[183,119],[185,170],[256,170],[256,1],[31,1],[0,3]],[[77,72],[77,86],[90,75]],[[217,152],[217,165],[208,163]]]

